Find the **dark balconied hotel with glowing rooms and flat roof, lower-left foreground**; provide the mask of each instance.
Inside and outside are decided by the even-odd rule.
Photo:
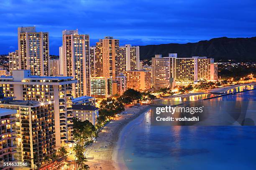
[[[54,103],[13,100],[13,97],[0,97],[0,108],[15,110],[13,128],[16,137],[14,158],[26,163],[24,170],[46,165],[56,151],[54,128]]]

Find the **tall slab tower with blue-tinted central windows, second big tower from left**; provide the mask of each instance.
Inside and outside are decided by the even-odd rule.
[[[72,76],[77,83],[72,85],[74,97],[90,95],[90,42],[89,35],[78,30],[62,31],[63,75]]]

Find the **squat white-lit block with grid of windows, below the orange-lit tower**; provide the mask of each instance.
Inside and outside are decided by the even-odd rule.
[[[92,77],[91,89],[93,97],[111,97],[112,96],[112,78]]]

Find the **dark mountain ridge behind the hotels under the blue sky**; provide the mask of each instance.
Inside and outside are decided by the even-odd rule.
[[[186,44],[169,43],[140,46],[140,60],[151,60],[155,54],[167,57],[177,53],[178,57],[206,56],[216,60],[256,61],[256,37],[218,37]]]

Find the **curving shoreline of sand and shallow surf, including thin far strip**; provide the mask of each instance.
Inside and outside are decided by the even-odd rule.
[[[195,92],[179,95],[179,97],[187,97],[192,95],[200,95],[210,92],[224,92],[232,88],[243,86],[243,85],[255,85],[253,83],[232,85],[228,87],[220,87],[209,90],[208,92]],[[156,100],[164,100],[177,96],[169,96]],[[124,160],[124,148],[121,148],[125,144],[125,138],[127,132],[131,132],[133,126],[138,124],[137,118],[141,118],[149,111],[149,105],[140,105],[137,108],[127,107],[125,111],[128,112],[125,115],[120,116],[116,120],[108,123],[99,133],[96,143],[93,143],[90,147],[89,153],[86,155],[88,158],[87,165],[90,168],[97,167],[102,170],[127,170]],[[144,114],[142,114],[144,113]],[[133,121],[135,120],[136,121]],[[102,146],[108,146],[107,148],[99,148]]]

